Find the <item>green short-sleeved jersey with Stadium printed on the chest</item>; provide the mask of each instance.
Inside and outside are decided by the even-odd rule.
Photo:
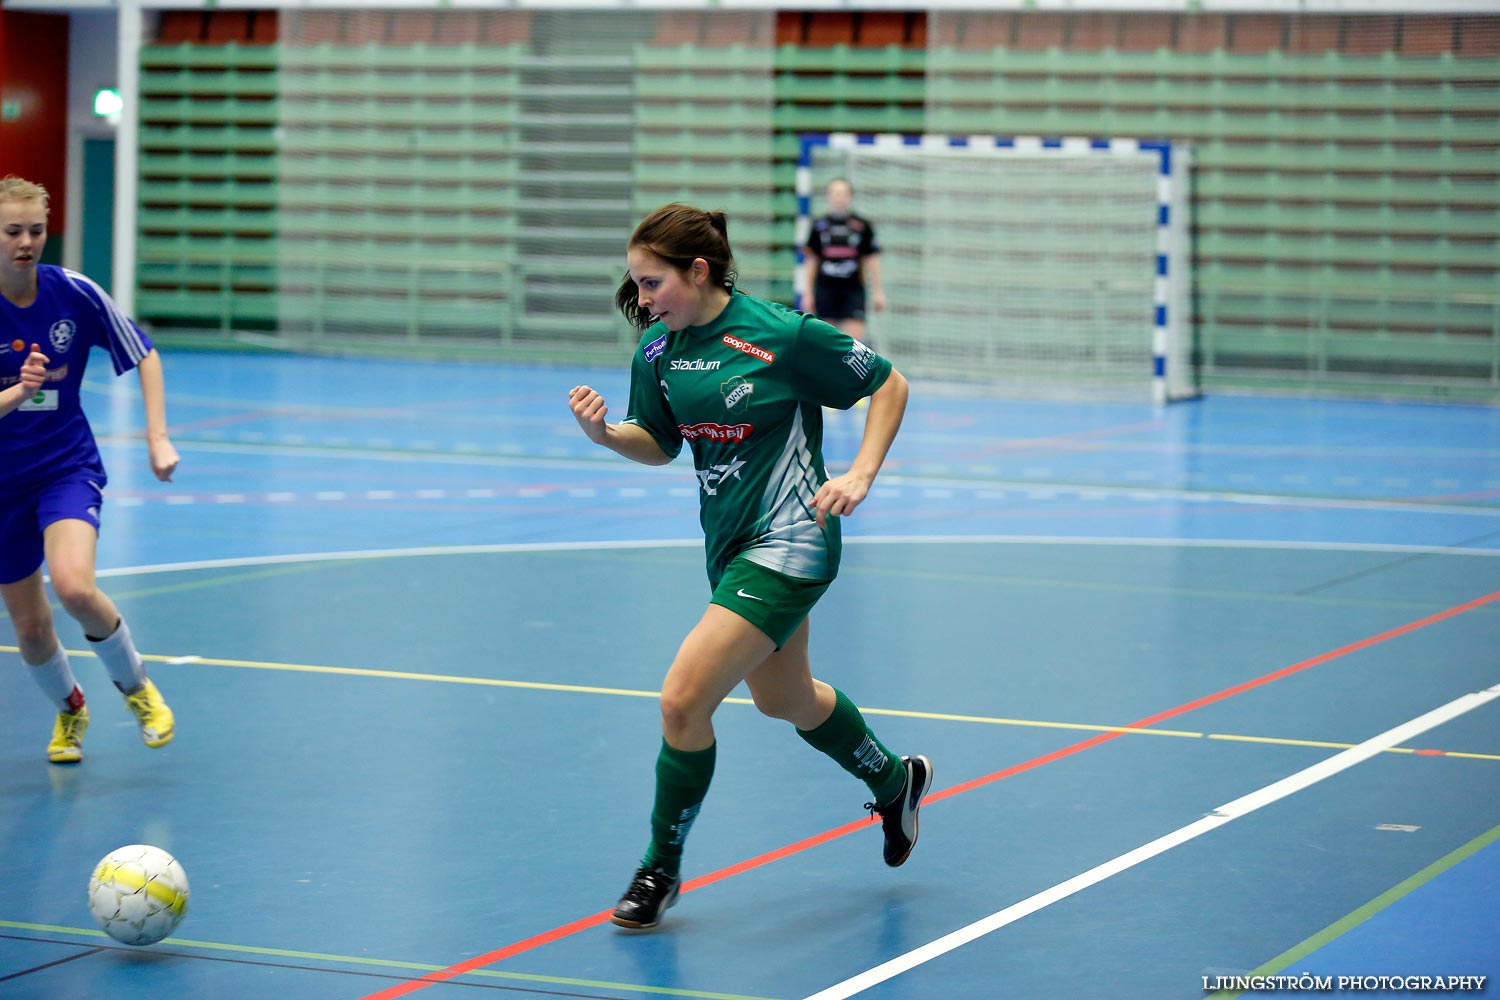
[[[698,472],[710,583],[738,555],[806,580],[831,580],[838,519],[819,528],[824,406],[872,394],[891,363],[820,319],[734,292],[718,316],[676,333],[651,325],[630,366],[627,423]]]

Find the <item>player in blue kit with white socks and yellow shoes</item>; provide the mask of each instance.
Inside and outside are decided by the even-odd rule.
[[[146,745],[164,747],[176,730],[129,627],[94,580],[108,480],[80,405],[90,348],[108,351],[117,375],[138,372],[156,478],[171,480],[177,450],[166,436],[156,349],[102,288],[40,262],[46,214],[40,184],[0,178],[0,595],[27,672],[58,709],[46,759],[75,763],[88,708],[52,627],[44,562],[58,603],[82,627]]]

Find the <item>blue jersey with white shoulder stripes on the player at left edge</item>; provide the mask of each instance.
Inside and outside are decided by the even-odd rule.
[[[72,469],[102,468],[80,403],[88,349],[108,351],[116,375],[152,351],[152,340],[86,276],[40,264],[36,283],[36,301],[24,309],[0,295],[0,388],[21,381],[33,343],[50,358],[42,388],[0,417],[0,495],[21,493]]]

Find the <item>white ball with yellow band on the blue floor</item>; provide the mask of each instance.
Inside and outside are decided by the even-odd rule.
[[[122,945],[154,945],[188,913],[188,873],[160,847],[111,850],[88,879],[88,910]]]

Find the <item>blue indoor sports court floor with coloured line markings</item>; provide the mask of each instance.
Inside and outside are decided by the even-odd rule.
[[[654,697],[708,592],[687,459],[567,411],[586,381],[622,415],[624,358],[165,363],[177,481],[134,376],[94,358],[87,406],[102,585],[178,733],[142,747],[78,652],[87,757],[48,765],[0,621],[6,1000],[1500,990],[1500,409],[914,381],[813,658],[933,760],[916,852],[886,870],[864,787],[735,699],[688,891],[630,934]],[[832,468],[861,420],[830,415]],[[84,900],[129,843],[192,880],[146,949]]]

